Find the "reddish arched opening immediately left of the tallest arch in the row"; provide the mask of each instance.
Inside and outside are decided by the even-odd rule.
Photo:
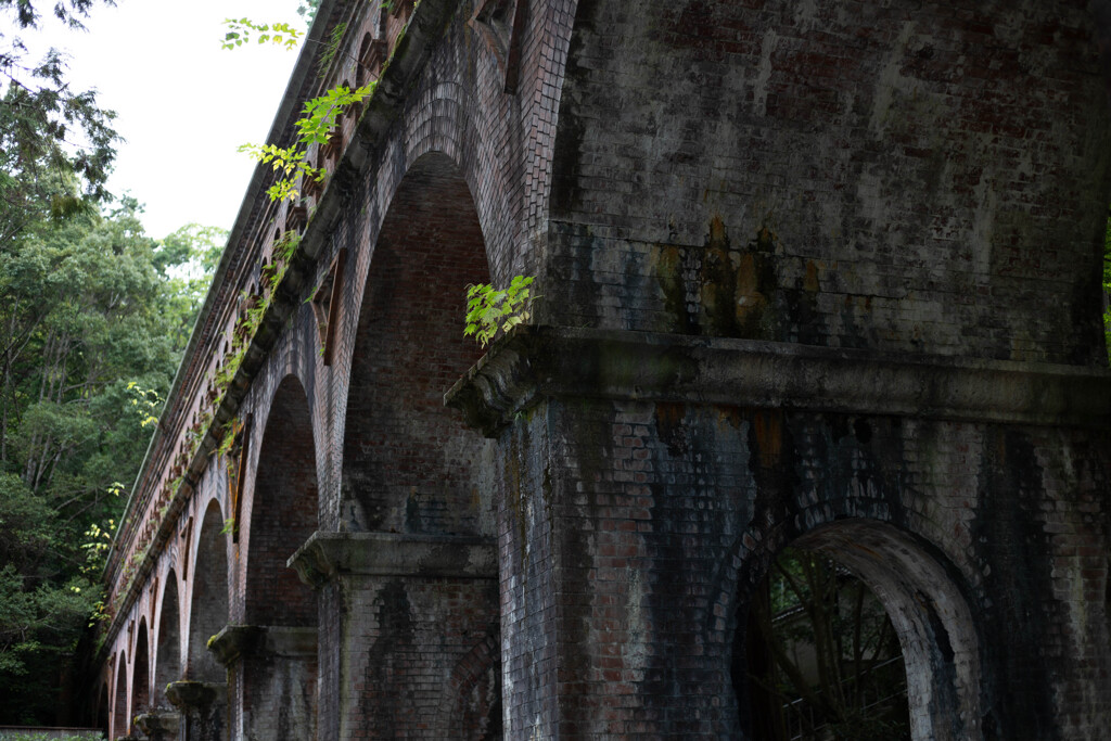
[[[289,557],[317,530],[317,463],[312,418],[296,375],[278,387],[262,434],[251,498],[247,623],[317,624],[317,601]]]

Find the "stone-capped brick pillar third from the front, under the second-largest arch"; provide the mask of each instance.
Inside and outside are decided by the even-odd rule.
[[[316,738],[316,628],[228,625],[209,649],[228,669],[232,738]]]

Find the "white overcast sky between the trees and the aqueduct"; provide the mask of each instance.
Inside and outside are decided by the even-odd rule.
[[[74,90],[96,88],[117,113],[113,194],[146,204],[147,233],[189,222],[230,229],[254,162],[237,151],[270,131],[297,51],[251,43],[222,50],[224,18],[303,27],[297,0],[118,0],[98,4],[88,32],[44,28],[34,47],[70,53]],[[52,2],[36,3],[48,14]],[[31,47],[31,43],[28,44]]]

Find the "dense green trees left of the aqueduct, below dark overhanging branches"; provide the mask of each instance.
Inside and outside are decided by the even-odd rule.
[[[0,723],[54,720],[119,482],[139,470],[219,253],[220,230],[160,243],[138,217],[124,199],[38,221],[0,252]]]

